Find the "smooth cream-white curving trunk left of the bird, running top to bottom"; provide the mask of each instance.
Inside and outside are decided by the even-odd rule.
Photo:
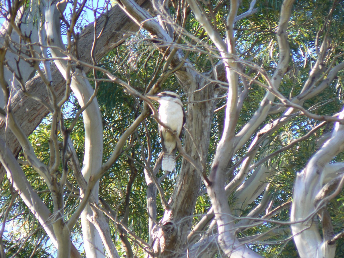
[[[61,28],[60,28],[60,11],[55,6],[56,2],[46,1],[45,22],[46,22],[46,34],[48,45],[52,48],[51,53],[54,58],[65,57],[65,54],[60,50],[64,50],[62,43]],[[63,11],[65,3],[59,5],[59,8]],[[94,94],[94,90],[86,78],[85,73],[73,67],[73,75],[69,74],[69,64],[64,60],[54,60],[57,68],[61,74],[67,80],[72,76],[71,89],[73,90],[76,98],[81,107],[90,100]],[[90,177],[100,170],[100,166],[103,158],[103,127],[101,121],[101,115],[99,106],[96,99],[83,111],[83,120],[85,127],[85,155],[83,161],[82,173],[85,180],[88,182]],[[92,195],[94,200],[98,200],[98,186],[99,181],[95,183],[92,189]],[[83,194],[83,193],[81,193]],[[87,216],[92,216],[93,212],[89,205],[86,205],[84,211],[81,214],[81,224],[84,237],[84,248],[87,257],[105,257],[104,248],[101,241],[101,237],[95,228],[90,223]]]

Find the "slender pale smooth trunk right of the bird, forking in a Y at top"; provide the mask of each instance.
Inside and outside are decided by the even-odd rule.
[[[225,173],[228,166],[228,157],[233,155],[234,131],[237,121],[237,99],[238,99],[238,75],[233,69],[237,63],[233,60],[235,55],[235,41],[233,36],[234,19],[238,10],[238,1],[230,1],[230,10],[227,16],[227,44],[222,37],[214,30],[211,23],[203,15],[202,10],[195,1],[189,0],[190,7],[196,19],[202,24],[209,37],[214,41],[221,56],[224,58],[226,77],[228,81],[228,96],[225,115],[224,131],[221,140],[216,148],[216,154],[212,163],[212,171],[209,179],[212,185],[207,187],[211,198],[214,213],[217,221],[218,242],[221,249],[230,257],[259,257],[255,252],[241,245],[235,237],[235,228],[231,216],[227,195],[224,191]],[[233,69],[231,69],[233,68]]]

